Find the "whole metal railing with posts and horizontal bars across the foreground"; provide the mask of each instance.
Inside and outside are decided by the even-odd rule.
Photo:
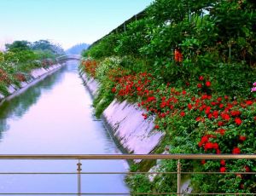
[[[0,172],[1,175],[77,175],[77,193],[0,193],[0,195],[183,195],[181,192],[181,176],[183,174],[247,174],[256,175],[256,172],[183,172],[180,160],[207,160],[207,159],[252,159],[256,160],[256,154],[65,154],[65,155],[0,155],[6,160],[78,160],[77,172]],[[173,172],[82,172],[81,160],[157,160],[175,159],[177,160],[177,171]],[[81,175],[135,175],[135,174],[176,174],[177,193],[82,193]],[[186,195],[255,195],[255,193],[185,193]]]

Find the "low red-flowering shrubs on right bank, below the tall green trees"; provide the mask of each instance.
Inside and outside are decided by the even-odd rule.
[[[147,111],[142,113],[142,118],[147,120],[154,116],[154,129],[166,131],[167,143],[172,146],[171,153],[255,153],[255,99],[236,100],[228,95],[218,95],[212,89],[214,82],[207,75],[198,76],[194,82],[184,84],[183,88],[175,88],[171,84],[161,84],[151,73],[117,68],[119,62],[105,67],[109,61],[103,61],[96,68],[91,68],[92,65],[95,67],[91,61],[83,64],[88,66],[84,70],[91,76],[105,77],[104,81],[108,81],[102,87],[104,96],[96,102],[108,100],[106,97],[111,97],[108,104],[113,97],[119,101],[137,102],[137,107]],[[200,164],[188,165],[191,170],[221,173],[256,170],[252,160],[203,160]],[[166,167],[166,162],[162,167]],[[195,189],[206,193],[255,191],[253,182],[256,179],[252,175],[191,176],[191,179]],[[215,185],[201,187],[199,184],[202,182],[214,182]],[[226,190],[227,187],[229,190]]]

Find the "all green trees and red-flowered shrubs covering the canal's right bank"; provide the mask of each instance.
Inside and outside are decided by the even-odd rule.
[[[256,13],[249,0],[156,0],[84,52],[101,83],[97,116],[114,98],[137,103],[166,132],[169,153],[256,153]],[[167,141],[167,142],[166,142]],[[255,160],[183,161],[185,171],[256,171]],[[159,171],[176,170],[176,161]],[[137,168],[139,166],[134,166]],[[193,175],[194,193],[256,193],[253,175]],[[127,179],[133,192],[175,192],[170,176]]]

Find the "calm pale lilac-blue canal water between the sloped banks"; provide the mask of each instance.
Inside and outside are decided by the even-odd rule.
[[[0,107],[0,154],[120,153],[78,74],[67,66]],[[0,160],[0,172],[76,172],[77,160]],[[82,160],[82,172],[128,170],[123,160]],[[82,193],[128,193],[123,175],[82,175]],[[0,175],[0,193],[77,193],[76,175]]]

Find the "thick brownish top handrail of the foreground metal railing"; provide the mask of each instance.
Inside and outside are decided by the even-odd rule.
[[[256,154],[1,154],[0,159],[256,159]]]

